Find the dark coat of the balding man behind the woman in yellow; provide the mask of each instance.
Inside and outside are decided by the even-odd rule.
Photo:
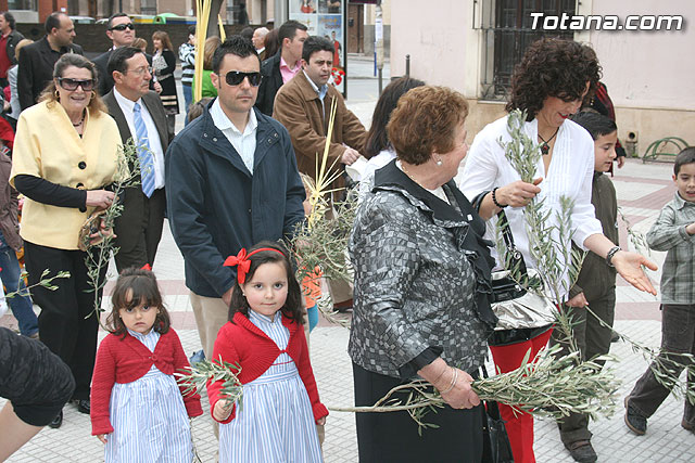
[[[22,111],[36,104],[46,86],[53,79],[55,62],[65,53],[83,54],[83,48],[73,43],[58,52],[51,49],[45,36],[22,49],[17,68],[17,93]]]

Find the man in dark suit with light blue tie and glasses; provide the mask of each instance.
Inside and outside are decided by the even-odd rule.
[[[149,89],[152,74],[144,53],[121,47],[111,53],[108,70],[115,85],[103,101],[116,120],[123,143],[132,138],[140,146],[138,157],[143,166],[141,184],[122,194],[123,214],[114,224],[119,247],[116,267],[121,272],[154,263],[164,224],[164,153],[170,134],[162,101]]]

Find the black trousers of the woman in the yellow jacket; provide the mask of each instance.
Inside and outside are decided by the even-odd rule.
[[[24,262],[29,285],[61,270],[70,272],[70,278],[56,279],[56,286],[50,291],[42,286],[31,288],[31,298],[41,308],[39,314],[39,337],[41,342],[70,366],[75,377],[76,388],[73,399],[89,399],[89,386],[97,356],[97,331],[99,322],[94,313],[94,293],[87,279],[85,258],[81,250],[65,250],[24,242]],[[105,276],[103,269],[101,278]],[[101,291],[99,292],[101,299]]]

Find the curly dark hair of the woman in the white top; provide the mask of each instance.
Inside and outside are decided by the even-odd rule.
[[[533,120],[548,97],[565,101],[594,94],[601,79],[601,65],[594,50],[573,40],[545,38],[531,43],[511,76],[507,112],[521,110]]]

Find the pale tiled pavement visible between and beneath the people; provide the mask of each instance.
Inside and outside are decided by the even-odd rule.
[[[349,104],[363,120],[368,120],[374,102]],[[660,207],[674,192],[670,181],[671,164],[647,164],[630,160],[618,170],[614,183],[618,192],[622,214],[632,229],[645,232],[654,221]],[[622,243],[626,243],[622,228]],[[653,253],[652,258],[660,263],[662,253]],[[113,266],[112,266],[113,268]],[[191,353],[200,349],[200,340],[184,285],[184,265],[168,228],[160,245],[154,271],[165,294],[165,303],[173,314],[174,326],[181,337],[184,348]],[[658,272],[654,276],[658,282]],[[109,291],[109,288],[106,288]],[[617,330],[648,346],[658,346],[660,339],[660,314],[658,300],[628,286],[618,284]],[[14,326],[12,316],[0,319],[0,325]],[[321,322],[311,336],[312,362],[323,401],[330,406],[352,403],[352,372],[346,355],[348,331]],[[101,333],[103,336],[103,333]],[[611,353],[617,362],[609,363],[622,381],[619,397],[622,398],[644,372],[647,364],[640,355],[623,343],[612,345]],[[0,400],[0,406],[4,400]],[[210,407],[203,399],[203,408]],[[695,436],[680,426],[682,400],[669,397],[649,420],[646,436],[631,434],[623,424],[620,403],[610,419],[599,417],[591,423],[594,433],[592,442],[602,462],[692,462],[695,461]],[[212,434],[210,419],[205,415],[193,420],[193,438],[203,462],[215,461],[216,440]],[[103,461],[102,445],[90,436],[87,415],[74,406],[65,407],[65,417],[60,429],[46,428],[16,452],[9,462],[98,462]],[[354,417],[349,413],[333,412],[328,417],[324,454],[327,462],[356,462],[356,438]],[[536,421],[535,454],[539,462],[570,462],[564,450],[554,422]]]

